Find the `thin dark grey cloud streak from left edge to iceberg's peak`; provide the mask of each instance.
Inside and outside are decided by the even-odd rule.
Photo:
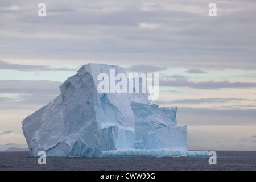
[[[18,71],[76,71],[76,69],[71,69],[67,67],[62,68],[51,68],[44,65],[24,65],[24,64],[10,64],[5,61],[0,60],[0,69],[14,69]]]

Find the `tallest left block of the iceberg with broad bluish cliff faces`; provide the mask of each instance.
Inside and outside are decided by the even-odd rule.
[[[54,101],[22,122],[32,156],[101,156],[134,146],[134,115],[128,94],[98,93],[99,73],[119,66],[87,64],[61,86]]]

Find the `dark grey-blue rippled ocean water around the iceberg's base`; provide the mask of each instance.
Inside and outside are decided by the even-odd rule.
[[[46,158],[39,165],[38,158],[29,152],[0,152],[1,171],[228,171],[256,170],[256,151],[216,151],[217,164],[209,158]]]

